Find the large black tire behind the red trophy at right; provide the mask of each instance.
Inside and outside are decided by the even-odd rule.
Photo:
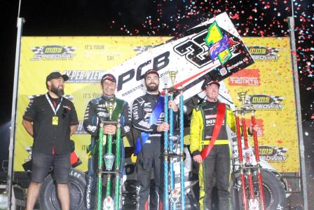
[[[252,173],[255,175],[255,173]],[[286,197],[285,190],[282,184],[275,176],[266,169],[261,169],[261,176],[263,178],[263,190],[264,190],[264,206],[265,210],[272,209],[285,209]],[[246,178],[247,183],[247,178]],[[254,195],[259,197],[259,182],[257,176],[253,177],[253,188]],[[249,188],[247,185],[247,198],[249,197]],[[235,173],[232,176],[231,181],[231,202],[233,204],[233,209],[242,210],[242,189],[240,186],[240,174]]]

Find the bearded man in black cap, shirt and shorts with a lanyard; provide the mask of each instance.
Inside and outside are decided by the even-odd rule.
[[[48,93],[31,101],[22,125],[34,138],[32,181],[27,190],[27,210],[34,209],[41,183],[53,166],[57,195],[62,210],[69,209],[70,136],[78,127],[76,110],[64,95],[64,81],[69,77],[52,72],[46,77]]]

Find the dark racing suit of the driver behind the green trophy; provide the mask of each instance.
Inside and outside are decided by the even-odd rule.
[[[97,143],[99,138],[100,129],[100,119],[103,121],[109,120],[109,113],[107,111],[105,103],[108,100],[115,101],[114,112],[120,114],[121,122],[121,136],[128,136],[130,133],[131,126],[131,112],[128,103],[124,100],[120,100],[113,97],[102,96],[100,98],[95,98],[90,100],[86,107],[86,112],[84,115],[83,127],[91,137],[91,143],[88,148],[89,156],[88,159],[88,178],[86,183],[86,206],[87,209],[93,209],[95,204],[93,193],[95,192],[95,181],[96,181],[96,170],[97,170]],[[119,110],[116,110],[119,109]],[[116,120],[116,119],[113,119]],[[116,139],[113,136],[113,140]],[[114,144],[115,145],[115,144]],[[113,151],[115,151],[113,149]],[[123,140],[121,140],[121,171],[123,171],[123,161],[124,161],[124,147]],[[123,173],[123,172],[121,172]]]

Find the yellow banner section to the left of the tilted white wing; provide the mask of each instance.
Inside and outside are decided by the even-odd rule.
[[[32,155],[33,139],[22,126],[22,116],[29,100],[46,93],[46,76],[53,71],[69,75],[64,85],[65,97],[76,107],[79,126],[71,136],[76,152],[87,170],[86,148],[90,135],[83,129],[83,116],[89,100],[102,96],[100,79],[104,72],[137,55],[140,49],[151,48],[169,37],[22,37],[18,105],[15,130],[14,171],[23,171],[22,164]],[[125,141],[125,146],[129,143]]]

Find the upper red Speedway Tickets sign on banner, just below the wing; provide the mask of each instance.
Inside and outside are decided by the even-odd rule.
[[[242,70],[235,72],[228,78],[230,86],[260,86],[261,78],[259,70]]]

